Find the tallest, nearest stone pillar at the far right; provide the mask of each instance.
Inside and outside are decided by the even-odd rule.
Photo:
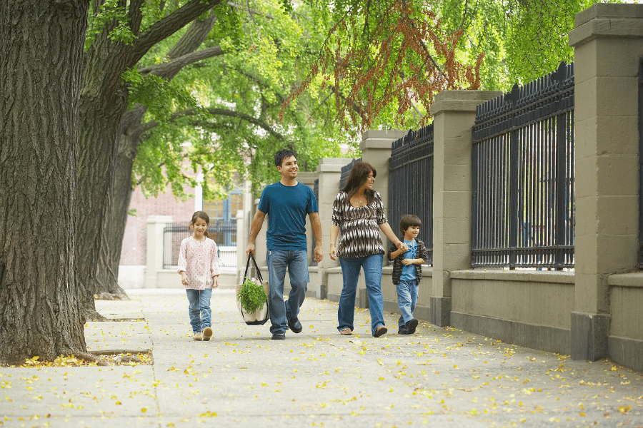
[[[575,289],[572,358],[607,357],[609,275],[637,267],[639,57],[643,5],[594,4],[576,16]]]

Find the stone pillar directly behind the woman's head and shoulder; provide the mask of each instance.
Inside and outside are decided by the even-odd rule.
[[[362,150],[362,161],[370,163],[377,170],[377,177],[373,190],[382,195],[384,212],[389,213],[389,158],[391,158],[391,147],[393,142],[407,135],[409,131],[390,129],[387,131],[366,131],[362,135],[362,143],[359,148]],[[390,223],[389,223],[390,225]],[[393,232],[399,235],[398,225],[391,225]],[[389,249],[389,240],[382,235],[384,251]],[[384,264],[387,264],[384,256]]]

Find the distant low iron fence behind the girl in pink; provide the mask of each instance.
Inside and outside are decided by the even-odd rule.
[[[209,238],[219,250],[219,269],[236,270],[236,221],[212,221],[208,225]],[[172,223],[163,229],[163,268],[176,267],[181,241],[189,237],[188,223]]]

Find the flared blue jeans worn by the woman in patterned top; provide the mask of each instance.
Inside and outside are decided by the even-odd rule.
[[[357,291],[357,280],[359,270],[364,268],[364,281],[369,296],[369,311],[371,312],[371,333],[377,327],[384,325],[384,297],[382,296],[382,259],[381,254],[369,255],[360,258],[339,258],[339,265],[342,266],[342,277],[344,287],[339,297],[339,309],[337,319],[339,326],[337,330],[346,327],[354,330],[353,320],[355,317],[355,292]]]

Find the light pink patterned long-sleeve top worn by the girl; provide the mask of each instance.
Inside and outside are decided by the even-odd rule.
[[[193,237],[181,241],[179,250],[179,270],[188,277],[188,285],[184,288],[204,290],[212,288],[213,276],[219,275],[219,257],[216,255],[216,243],[206,238],[199,242]]]

